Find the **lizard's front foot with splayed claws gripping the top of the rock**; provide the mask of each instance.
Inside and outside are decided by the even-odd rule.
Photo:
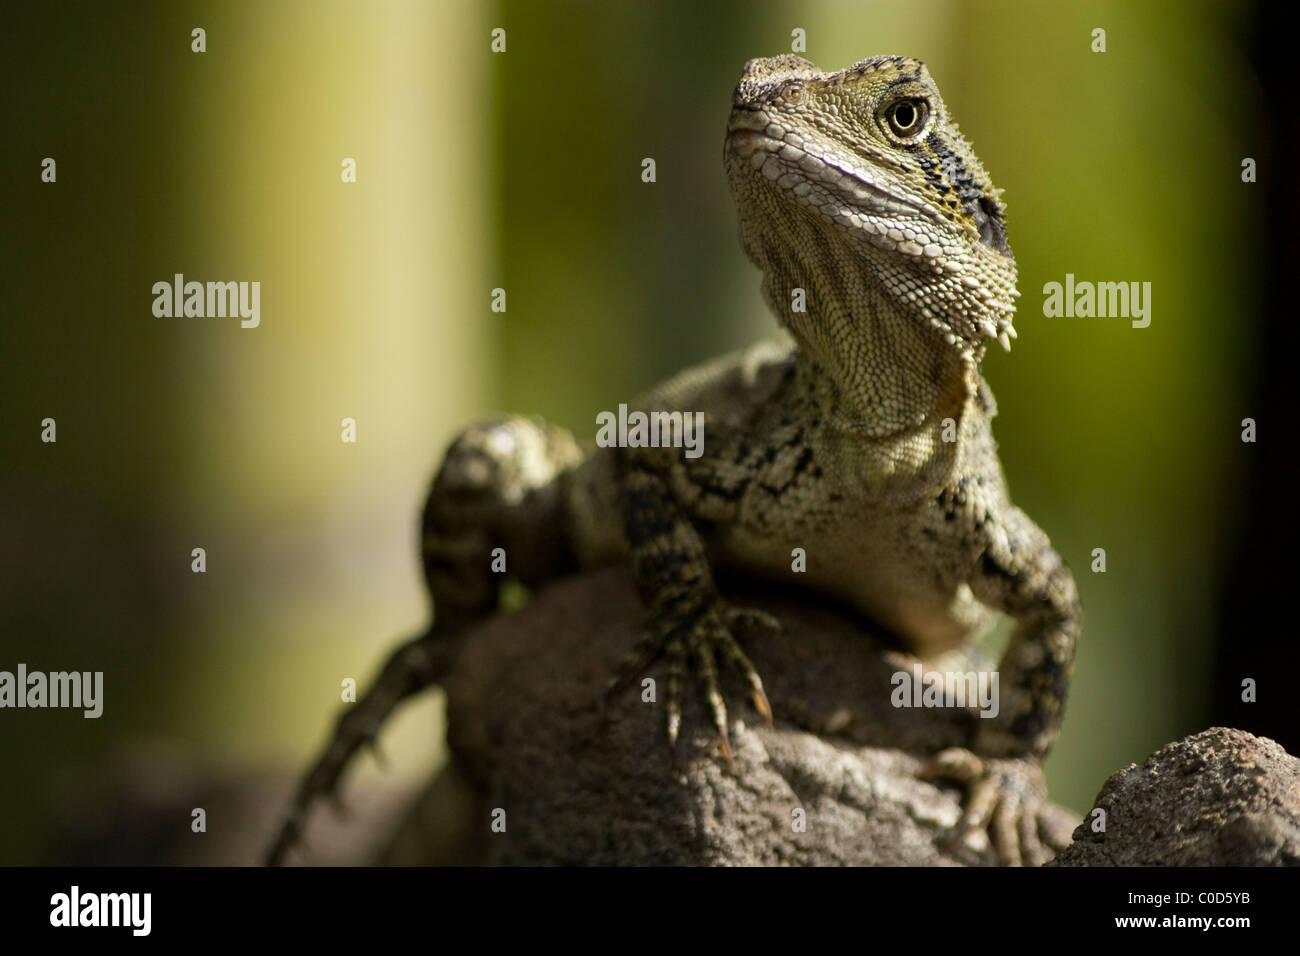
[[[660,657],[667,658],[668,684],[664,709],[668,715],[668,745],[676,750],[677,735],[681,731],[681,684],[689,665],[693,663],[705,683],[705,698],[708,702],[714,728],[718,731],[723,758],[728,769],[734,770],[731,739],[727,734],[727,705],[718,685],[719,657],[740,671],[749,684],[754,708],[768,726],[772,724],[772,706],[763,691],[763,680],[732,633],[749,628],[780,632],[781,624],[766,611],[732,607],[720,598],[714,598],[693,613],[676,615],[668,620],[655,620],[646,627],[641,640],[619,666],[618,674],[606,689],[604,706],[608,706],[610,698],[636,680],[646,667]]]

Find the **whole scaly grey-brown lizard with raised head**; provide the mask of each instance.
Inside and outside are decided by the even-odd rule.
[[[998,715],[974,719],[970,748],[937,754],[927,773],[970,788],[954,838],[988,830],[1009,864],[1049,856],[1036,825],[1040,762],[1080,610],[1046,535],[1010,502],[979,372],[985,341],[1010,349],[1015,336],[998,193],[926,68],[904,57],[829,74],[796,56],[751,60],[724,159],[742,246],[793,343],[690,369],[633,406],[703,412],[699,458],[593,450],[536,419],[463,433],[425,506],[437,624],[341,719],[273,858],[389,710],[437,680],[455,636],[495,609],[498,546],[533,585],[630,559],[647,626],[612,689],[667,658],[675,741],[694,670],[728,763],[719,669],[737,669],[771,719],[734,632],[780,626],[723,601],[715,568],[835,596],[920,657],[976,639],[994,611],[1010,615]],[[794,548],[806,574],[792,575]]]

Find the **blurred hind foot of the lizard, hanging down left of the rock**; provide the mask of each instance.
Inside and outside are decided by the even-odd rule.
[[[276,842],[266,852],[268,866],[282,864],[289,851],[298,845],[307,823],[307,814],[318,797],[329,797],[335,806],[342,808],[335,788],[352,757],[361,747],[374,747],[380,728],[398,704],[437,678],[438,654],[434,653],[434,641],[441,644],[443,636],[439,632],[434,637],[430,630],[402,645],[384,665],[370,689],[338,718],[329,744],[299,784]]]

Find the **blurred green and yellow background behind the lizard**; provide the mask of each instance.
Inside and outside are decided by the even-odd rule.
[[[1264,193],[1240,181],[1264,125],[1257,17],[1226,0],[8,8],[0,669],[103,670],[105,709],[0,711],[0,864],[82,861],[120,766],[164,791],[169,767],[255,769],[282,801],[341,679],[364,684],[426,617],[419,507],[462,424],[530,411],[589,434],[595,411],[772,334],[722,137],[741,64],[788,52],[794,27],[823,69],[924,60],[1005,190],[1019,341],[984,371],[1017,503],[1083,592],[1048,771],[1087,809],[1243,676],[1214,665],[1234,489],[1262,454],[1238,437],[1262,350]],[[260,281],[260,328],[155,317],[151,286],[176,272]],[[1043,284],[1067,272],[1149,281],[1150,326],[1045,319]],[[439,719],[434,700],[403,711],[385,779],[428,775]],[[173,823],[183,844],[188,813]]]

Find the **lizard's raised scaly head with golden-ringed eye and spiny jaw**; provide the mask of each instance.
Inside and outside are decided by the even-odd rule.
[[[920,343],[963,363],[987,338],[1010,349],[1018,293],[1000,191],[923,64],[750,60],[724,156],[741,242],[802,346],[832,364]]]

